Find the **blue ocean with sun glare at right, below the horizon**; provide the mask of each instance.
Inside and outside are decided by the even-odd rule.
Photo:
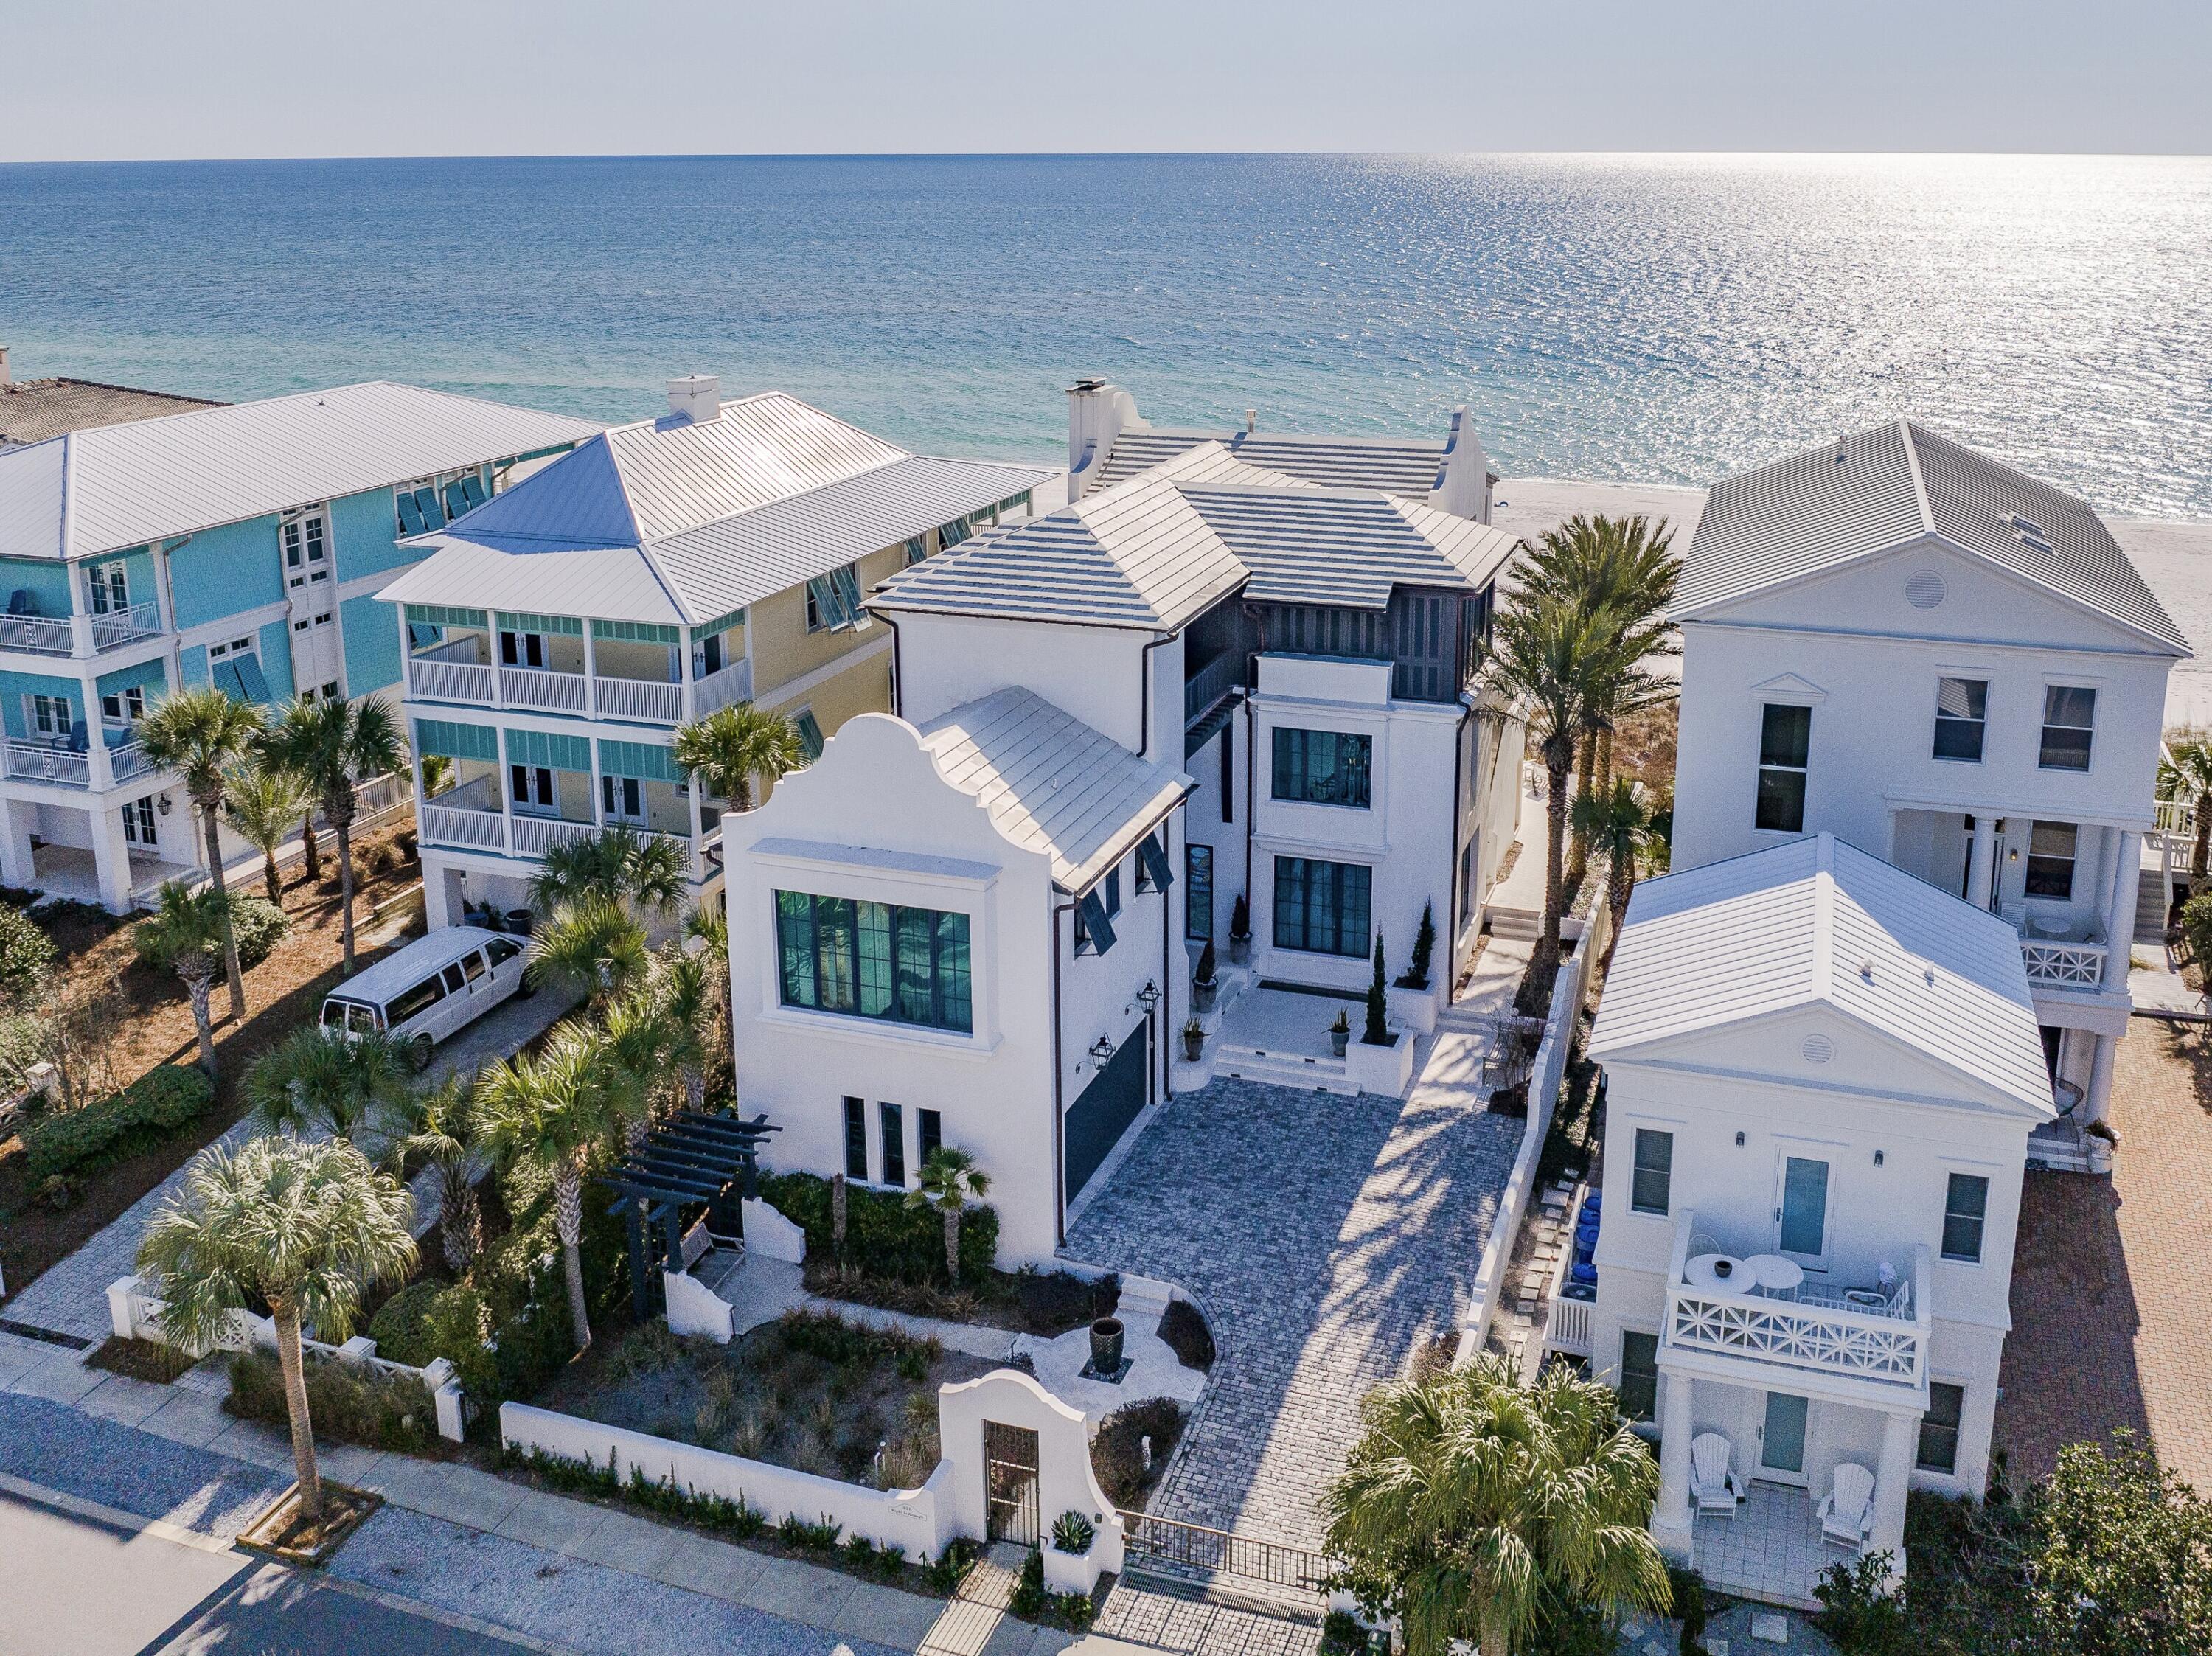
[[[597,418],[783,387],[925,451],[1442,431],[1705,484],[1911,413],[2212,517],[2212,161],[821,157],[0,166],[18,376],[396,378]]]

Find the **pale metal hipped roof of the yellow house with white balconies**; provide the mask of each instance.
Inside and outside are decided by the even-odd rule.
[[[418,539],[392,601],[708,621],[1051,480],[911,455],[783,391],[619,427]],[[522,562],[529,559],[529,562]]]

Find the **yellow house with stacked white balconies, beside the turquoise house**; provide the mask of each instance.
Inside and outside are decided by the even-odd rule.
[[[783,391],[723,402],[697,374],[414,544],[383,586],[405,635],[429,924],[526,906],[540,856],[628,825],[721,878],[721,800],[677,725],[741,701],[807,756],[891,705],[891,635],[863,593],[1026,515],[1042,467],[914,455]]]

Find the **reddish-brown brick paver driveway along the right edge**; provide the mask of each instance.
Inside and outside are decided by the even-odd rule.
[[[2115,1426],[2212,1492],[2212,1041],[2139,1017],[2112,1070],[2112,1178],[2028,1174],[1997,1444],[2042,1477]]]

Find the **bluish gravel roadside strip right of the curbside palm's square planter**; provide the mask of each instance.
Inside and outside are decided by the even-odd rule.
[[[741,1649],[745,1656],[898,1656],[889,1645],[803,1627],[763,1610],[668,1587],[566,1552],[385,1506],[330,1572],[440,1610],[495,1616],[502,1627],[606,1656],[661,1649]],[[489,1610],[495,1605],[498,1610]]]

